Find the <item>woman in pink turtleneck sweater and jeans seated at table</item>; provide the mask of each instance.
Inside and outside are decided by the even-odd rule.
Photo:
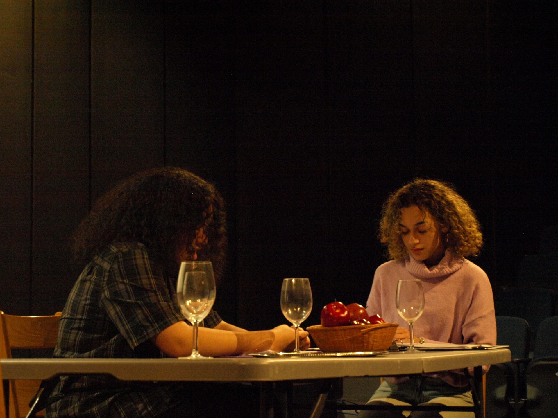
[[[477,255],[482,246],[479,223],[449,184],[415,179],[393,193],[383,206],[379,238],[387,245],[391,261],[374,274],[368,314],[400,324],[396,338],[408,342],[408,325],[395,306],[397,281],[420,279],[425,309],[414,325],[417,348],[421,342],[496,344],[492,287],[484,271],[464,258]],[[385,378],[372,402],[473,406],[463,371]],[[469,418],[474,414],[362,411],[359,416]]]

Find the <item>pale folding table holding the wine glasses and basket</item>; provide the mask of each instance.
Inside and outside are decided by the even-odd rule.
[[[122,380],[282,382],[340,377],[397,376],[511,361],[508,349],[394,352],[376,357],[224,357],[210,359],[1,359],[0,378],[44,380],[56,375],[106,373]],[[477,373],[478,374],[478,373]],[[480,377],[480,375],[478,374]],[[478,383],[478,382],[477,382]],[[266,402],[262,403],[266,409]],[[286,416],[292,414],[288,402]],[[262,410],[262,415],[268,411]]]

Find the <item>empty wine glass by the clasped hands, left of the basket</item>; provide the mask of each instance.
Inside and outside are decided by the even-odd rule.
[[[300,353],[299,327],[312,310],[312,290],[307,278],[283,279],[281,310],[285,318],[295,325],[295,353]]]

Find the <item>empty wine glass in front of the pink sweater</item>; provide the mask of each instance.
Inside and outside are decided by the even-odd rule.
[[[397,282],[395,305],[401,318],[405,319],[409,324],[411,346],[407,352],[416,352],[418,350],[415,348],[413,324],[420,318],[424,310],[424,290],[422,290],[422,282],[420,280],[399,280]]]

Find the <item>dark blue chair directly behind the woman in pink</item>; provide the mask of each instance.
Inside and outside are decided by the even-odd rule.
[[[512,361],[493,364],[486,375],[486,416],[519,417],[526,397],[525,364],[529,361],[530,328],[525,319],[496,317],[497,344],[509,346]]]

